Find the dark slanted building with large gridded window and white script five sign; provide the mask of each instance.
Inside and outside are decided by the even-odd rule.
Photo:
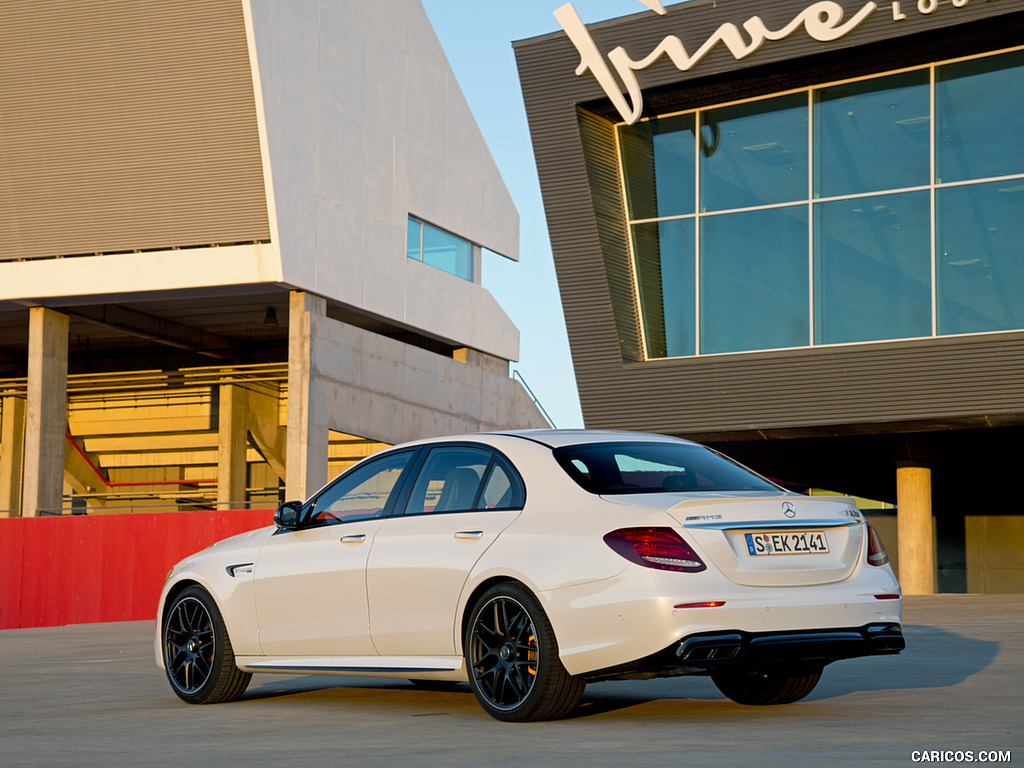
[[[895,505],[909,592],[1024,590],[1024,2],[645,4],[516,44],[587,425]]]

